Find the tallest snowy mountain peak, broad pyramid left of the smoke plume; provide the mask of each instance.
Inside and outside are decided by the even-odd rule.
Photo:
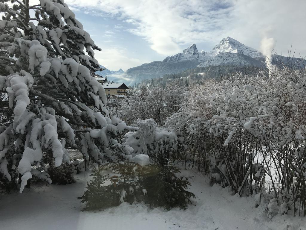
[[[215,45],[211,53],[215,56],[219,53],[240,53],[252,58],[263,56],[263,54],[256,49],[248,47],[231,37],[222,38],[219,44]]]

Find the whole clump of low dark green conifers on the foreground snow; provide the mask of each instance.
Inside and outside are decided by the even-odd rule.
[[[106,171],[109,169],[120,175],[116,187],[113,184],[104,185],[111,175]],[[132,204],[141,201],[150,208],[186,209],[190,198],[195,195],[187,191],[190,183],[178,178],[178,172],[179,169],[172,164],[153,164],[144,167],[123,161],[106,164],[93,171],[87,190],[78,199],[85,203],[83,210],[101,210],[118,206],[122,202]]]

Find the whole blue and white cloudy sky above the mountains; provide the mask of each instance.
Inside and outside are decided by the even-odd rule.
[[[65,0],[102,48],[96,59],[126,71],[182,52],[211,50],[230,36],[286,55],[306,56],[304,0]]]

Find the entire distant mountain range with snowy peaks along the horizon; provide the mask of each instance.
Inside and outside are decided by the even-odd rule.
[[[272,63],[277,64],[280,59],[284,63],[296,63],[299,58],[290,58],[283,56],[272,56]],[[123,82],[132,84],[139,82],[141,79],[151,79],[162,77],[165,74],[178,73],[187,69],[196,67],[207,67],[216,65],[236,65],[236,66],[263,66],[265,56],[254,48],[248,47],[239,41],[227,37],[215,45],[209,51],[198,52],[196,44],[192,44],[184,49],[182,53],[166,57],[163,61],[154,61],[145,63],[137,67],[128,69],[126,72],[120,69],[119,71],[104,70],[101,73],[106,74],[108,80],[114,76],[114,79],[121,79]],[[306,61],[303,60],[306,64]],[[100,75],[100,74],[99,74]],[[110,76],[110,78],[109,78]]]

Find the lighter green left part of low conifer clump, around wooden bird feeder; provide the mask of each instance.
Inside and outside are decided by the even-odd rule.
[[[111,162],[97,168],[94,167],[91,174],[92,179],[89,183],[87,182],[87,190],[81,197],[78,197],[81,200],[80,203],[85,203],[83,210],[105,209],[118,206],[122,202],[132,204],[135,201],[144,200],[147,191],[139,181],[142,169],[146,167],[149,166],[142,167],[128,159],[119,163]],[[109,174],[104,174],[106,172]],[[118,176],[116,186],[113,183],[104,185],[105,181],[110,180],[112,176]]]

